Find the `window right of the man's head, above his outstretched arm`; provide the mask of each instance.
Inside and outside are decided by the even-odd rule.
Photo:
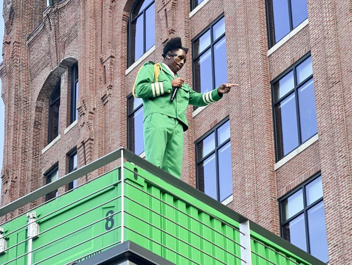
[[[192,41],[193,87],[205,93],[227,82],[225,18],[222,16]]]

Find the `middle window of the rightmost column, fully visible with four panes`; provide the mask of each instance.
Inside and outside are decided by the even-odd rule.
[[[271,82],[276,160],[318,132],[312,58],[304,56]]]

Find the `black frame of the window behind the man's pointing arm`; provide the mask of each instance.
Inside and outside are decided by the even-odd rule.
[[[218,41],[223,38],[224,36],[226,36],[226,28],[225,28],[225,32],[222,33],[218,38],[216,38],[214,40],[214,36],[213,36],[213,26],[218,23],[222,18],[225,18],[225,14],[222,13],[219,17],[217,17],[214,21],[212,21],[212,23],[210,23],[205,29],[203,29],[197,36],[195,36],[192,41],[191,41],[191,47],[192,47],[192,85],[194,88],[194,91],[201,93],[201,88],[199,87],[199,91],[197,89],[197,86],[195,84],[195,80],[196,80],[196,73],[195,73],[195,61],[197,59],[199,59],[203,54],[205,54],[209,49],[211,51],[211,57],[212,57],[212,86],[213,86],[213,90],[216,88],[215,87],[215,62],[214,62],[214,45],[216,43],[218,43]],[[203,50],[201,51],[201,53],[195,55],[195,48],[194,48],[194,43],[208,30],[210,30],[210,44]],[[227,52],[227,50],[226,50]],[[227,74],[227,73],[226,73]],[[196,106],[193,107],[193,110],[197,109]]]

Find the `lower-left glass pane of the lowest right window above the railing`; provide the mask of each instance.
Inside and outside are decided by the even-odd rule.
[[[291,242],[296,247],[307,251],[306,227],[304,224],[304,215],[301,214],[288,224],[283,226],[283,238]]]

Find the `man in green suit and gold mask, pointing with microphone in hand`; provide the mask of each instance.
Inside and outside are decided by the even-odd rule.
[[[181,178],[188,104],[206,106],[221,99],[231,87],[239,86],[223,83],[207,93],[193,91],[177,75],[186,63],[187,52],[181,38],[170,39],[163,50],[164,62],[146,62],[137,74],[132,92],[143,99],[145,159],[177,178]]]

